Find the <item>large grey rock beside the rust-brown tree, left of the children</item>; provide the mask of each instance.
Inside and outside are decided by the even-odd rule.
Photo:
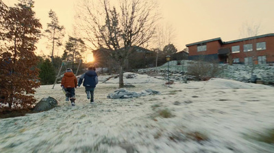
[[[53,97],[45,97],[40,100],[34,107],[34,112],[42,112],[46,110],[50,110],[58,105],[58,102]]]

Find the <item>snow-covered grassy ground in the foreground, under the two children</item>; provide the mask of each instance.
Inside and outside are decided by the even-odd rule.
[[[60,106],[1,119],[0,152],[274,152],[256,139],[274,128],[273,87],[214,78],[169,88],[164,80],[133,76],[125,78],[136,86],[128,91],[161,94],[107,99],[118,78],[102,83],[109,76],[100,76],[95,104],[81,86],[73,107],[60,84],[40,86],[36,99],[55,97]]]

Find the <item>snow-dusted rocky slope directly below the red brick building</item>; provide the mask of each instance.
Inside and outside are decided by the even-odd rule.
[[[188,76],[188,67],[190,67],[194,60],[181,60],[180,65],[177,65],[177,60],[169,62],[169,71],[171,80],[186,80]],[[208,63],[209,64],[209,63]],[[207,65],[207,64],[206,64]],[[211,64],[212,65],[212,64]],[[262,80],[264,84],[269,84],[274,82],[274,66],[273,64],[256,64],[254,67],[252,65],[245,64],[215,64],[218,65],[219,71],[215,74],[216,78],[225,78],[229,80],[236,80],[240,82],[249,82],[251,79],[251,69],[253,70],[253,75],[256,78]],[[160,67],[151,67],[148,69],[138,69],[138,73],[147,73],[165,76],[167,74],[167,62]],[[185,73],[182,75],[182,71]],[[154,74],[155,75],[155,74]]]

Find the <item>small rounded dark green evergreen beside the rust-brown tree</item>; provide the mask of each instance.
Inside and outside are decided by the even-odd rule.
[[[55,69],[49,59],[42,62],[39,74],[40,82],[42,84],[53,84],[55,81]]]

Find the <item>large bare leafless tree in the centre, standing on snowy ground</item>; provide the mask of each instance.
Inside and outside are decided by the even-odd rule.
[[[96,49],[105,48],[108,55],[119,62],[121,88],[123,70],[133,47],[145,45],[155,34],[156,3],[147,0],[121,0],[119,4],[112,4],[110,0],[92,2],[82,0],[77,23],[86,40]]]

